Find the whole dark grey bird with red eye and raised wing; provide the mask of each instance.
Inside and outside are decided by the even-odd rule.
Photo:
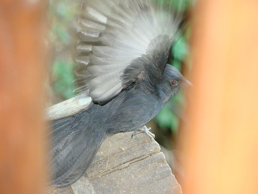
[[[75,92],[92,101],[50,121],[49,183],[55,187],[79,180],[107,136],[154,137],[145,124],[189,83],[167,64],[185,26],[173,0],[89,0],[79,15]]]

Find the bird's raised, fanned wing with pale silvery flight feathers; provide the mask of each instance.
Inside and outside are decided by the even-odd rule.
[[[182,16],[173,0],[89,0],[78,20],[75,71],[93,102],[105,105],[138,79],[161,77]],[[89,86],[89,87],[88,87]]]

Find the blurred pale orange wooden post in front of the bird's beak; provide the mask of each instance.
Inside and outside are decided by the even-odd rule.
[[[183,192],[258,192],[258,1],[200,0]]]

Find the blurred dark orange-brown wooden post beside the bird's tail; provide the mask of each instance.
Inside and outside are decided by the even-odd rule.
[[[0,1],[0,193],[44,193],[46,11]]]

